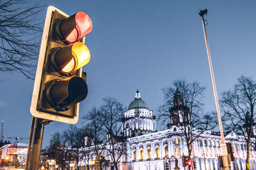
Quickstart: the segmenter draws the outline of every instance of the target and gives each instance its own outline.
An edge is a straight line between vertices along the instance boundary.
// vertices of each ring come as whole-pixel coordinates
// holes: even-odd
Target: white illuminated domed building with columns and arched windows
[[[148,110],[147,103],[141,99],[140,92],[136,92],[134,101],[129,104],[124,113],[122,133],[127,138],[127,150],[121,157],[119,169],[174,169],[175,159],[180,169],[182,167],[182,155],[188,155],[185,139],[180,136],[179,123],[186,120],[188,107],[182,103],[179,90],[173,99],[173,107],[170,108],[169,128],[164,131],[156,131],[156,117],[153,111]],[[228,149],[232,150],[230,169],[246,169],[246,143],[243,138],[234,132],[225,136]],[[220,169],[218,155],[220,155],[221,136],[218,132],[205,131],[193,142],[191,159],[196,162],[197,170]],[[106,160],[111,160],[106,154]],[[111,169],[109,166],[102,169]],[[256,169],[256,152],[250,150],[250,167]],[[113,169],[113,167],[112,167]]]

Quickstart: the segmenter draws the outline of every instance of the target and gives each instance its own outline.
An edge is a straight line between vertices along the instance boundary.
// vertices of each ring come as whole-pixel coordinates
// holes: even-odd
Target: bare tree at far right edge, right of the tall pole
[[[246,76],[237,78],[234,89],[221,94],[221,106],[221,110],[225,113],[225,129],[236,132],[246,140],[246,163],[249,163],[253,126],[255,125],[253,120],[256,118],[254,111],[256,106],[255,81]]]

